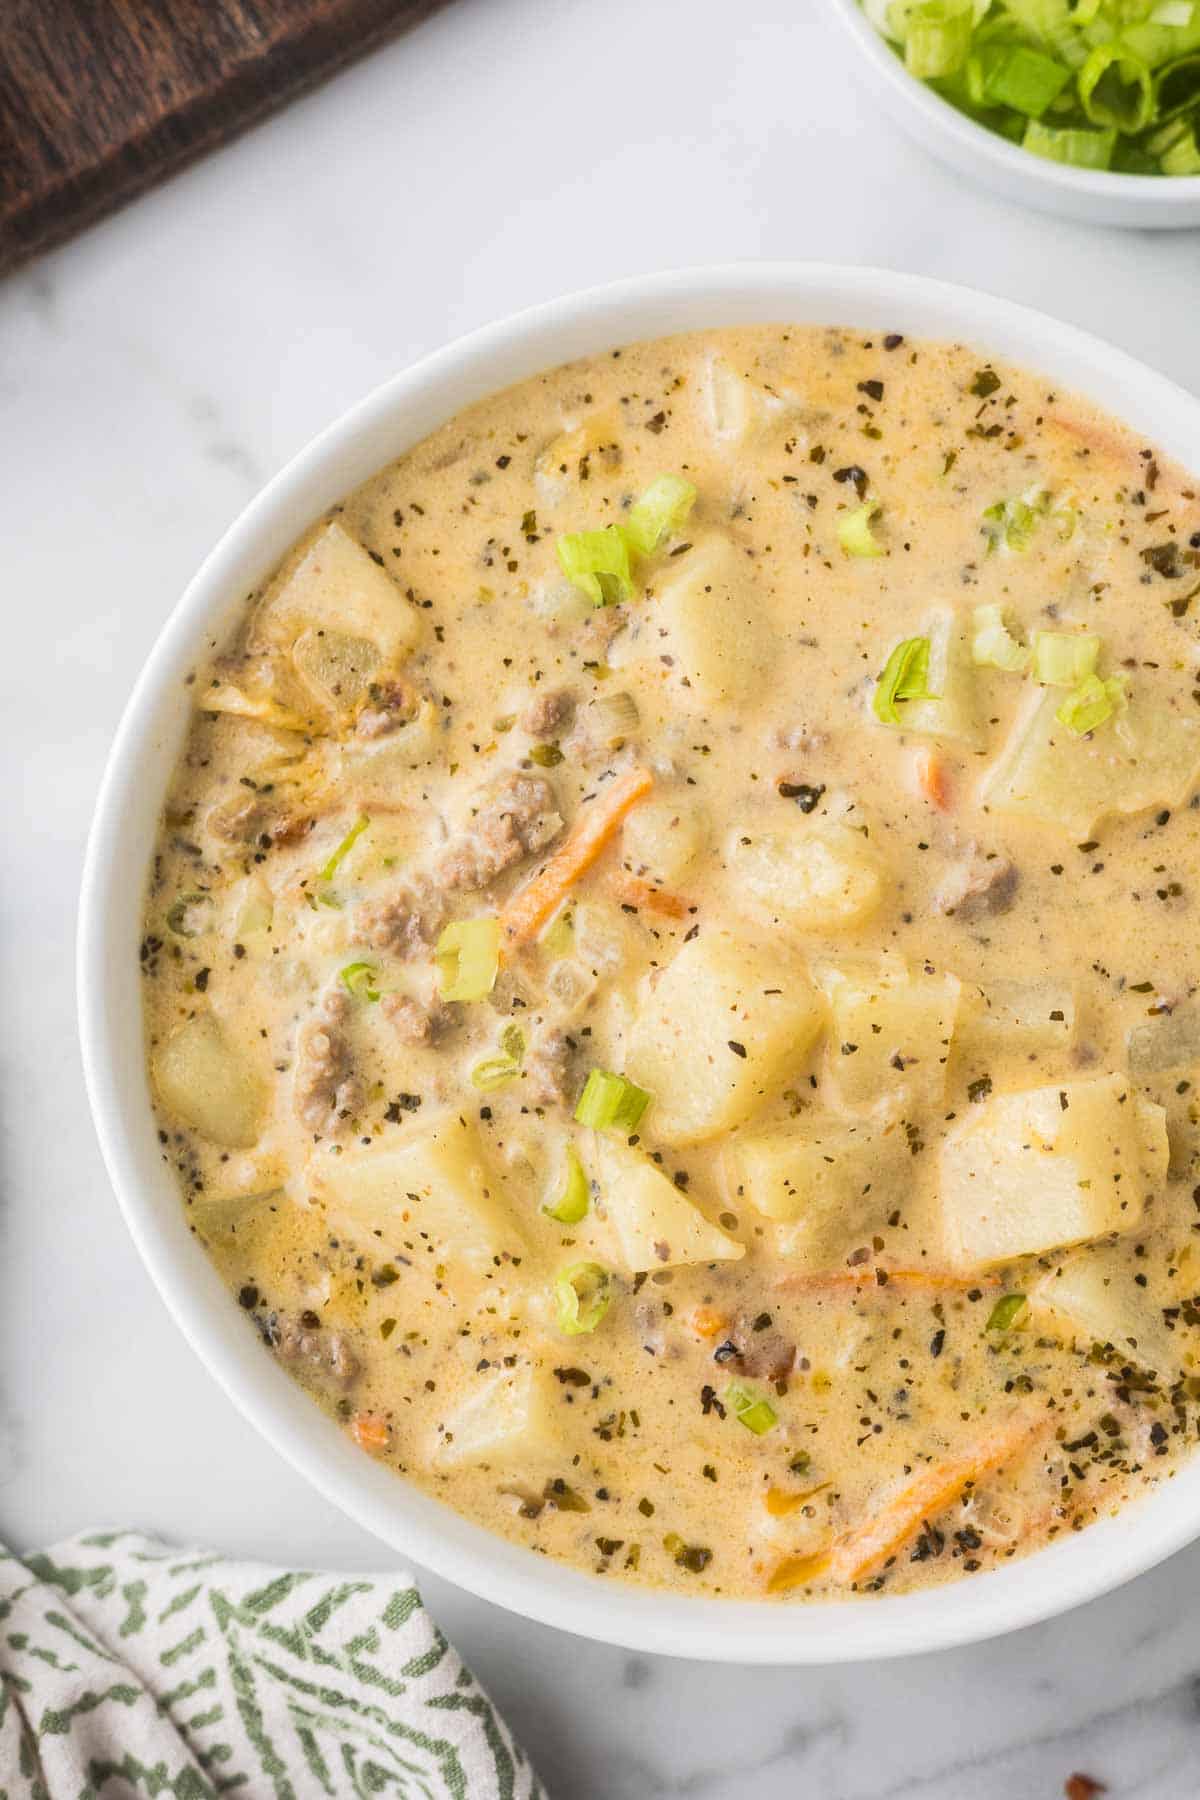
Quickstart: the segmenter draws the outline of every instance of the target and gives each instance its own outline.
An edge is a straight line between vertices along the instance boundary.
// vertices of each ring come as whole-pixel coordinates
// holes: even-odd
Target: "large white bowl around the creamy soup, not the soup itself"
[[[846,324],[975,344],[1078,389],[1200,468],[1200,403],[1097,338],[964,288],[869,268],[781,263],[649,275],[552,301],[441,349],[331,425],[254,500],[167,619],[101,785],[79,916],[79,1024],[95,1125],[126,1222],[200,1357],[259,1431],[362,1526],[473,1593],[639,1651],[745,1663],[900,1656],[1076,1606],[1200,1532],[1200,1458],[1115,1521],[928,1593],[766,1606],[628,1588],[493,1537],[371,1462],[297,1388],[184,1219],[142,1062],[142,880],[191,707],[184,677],[293,538],[381,464],[482,396],[554,364],[705,326]],[[236,1480],[236,1472],[230,1476]]]

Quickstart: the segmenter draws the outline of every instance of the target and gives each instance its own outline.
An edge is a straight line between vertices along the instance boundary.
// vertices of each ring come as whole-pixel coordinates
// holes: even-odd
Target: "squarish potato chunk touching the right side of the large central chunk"
[[[937,1105],[959,1015],[955,976],[910,974],[896,958],[876,970],[826,968],[829,1073],[849,1107],[903,1093]]]

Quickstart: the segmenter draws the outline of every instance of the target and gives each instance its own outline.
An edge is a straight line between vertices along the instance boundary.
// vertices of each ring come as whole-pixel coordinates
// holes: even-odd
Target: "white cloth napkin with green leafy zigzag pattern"
[[[407,1573],[0,1546],[0,1800],[545,1800]]]

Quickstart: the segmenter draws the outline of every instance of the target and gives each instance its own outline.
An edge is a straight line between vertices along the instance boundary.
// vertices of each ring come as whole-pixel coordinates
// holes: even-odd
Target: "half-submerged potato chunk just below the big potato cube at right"
[[[1133,1280],[1137,1269],[1121,1244],[1076,1251],[1031,1289],[1034,1327],[1083,1352],[1112,1345],[1119,1357],[1171,1382],[1182,1372],[1187,1339],[1168,1330],[1162,1309]]]

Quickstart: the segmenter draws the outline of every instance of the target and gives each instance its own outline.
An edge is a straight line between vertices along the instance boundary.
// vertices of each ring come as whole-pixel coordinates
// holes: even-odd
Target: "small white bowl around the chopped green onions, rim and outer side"
[[[856,49],[864,83],[896,124],[959,175],[972,175],[1006,200],[1085,225],[1180,230],[1200,225],[1200,175],[1112,175],[1070,169],[975,124],[905,68],[860,0],[829,0]]]

